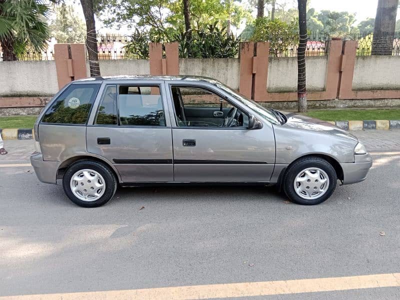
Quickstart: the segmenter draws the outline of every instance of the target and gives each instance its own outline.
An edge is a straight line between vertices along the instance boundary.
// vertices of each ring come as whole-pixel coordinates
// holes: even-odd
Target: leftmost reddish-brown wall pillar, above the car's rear
[[[84,44],[55,44],[54,60],[59,88],[87,76]]]

